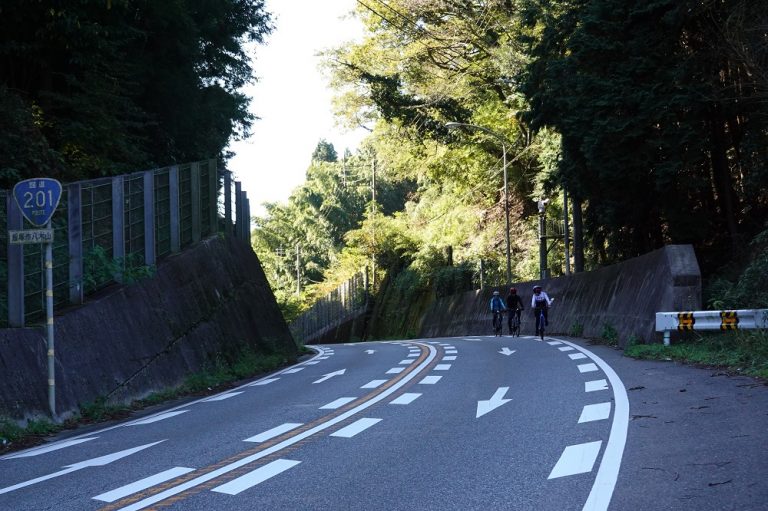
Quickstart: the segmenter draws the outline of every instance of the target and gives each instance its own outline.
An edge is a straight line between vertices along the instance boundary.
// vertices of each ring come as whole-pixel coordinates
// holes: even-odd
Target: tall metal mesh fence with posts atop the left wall
[[[238,200],[232,193],[225,197],[225,183],[234,190],[231,174],[219,173],[215,160],[205,160],[64,184],[51,220],[54,309],[82,303],[84,295],[120,281],[129,270],[153,266],[223,230],[225,205]],[[229,202],[226,209],[234,225],[236,203]],[[8,230],[30,224],[22,220],[7,190],[0,190],[0,225],[7,227],[0,229],[0,327],[41,324],[45,248],[8,244]]]

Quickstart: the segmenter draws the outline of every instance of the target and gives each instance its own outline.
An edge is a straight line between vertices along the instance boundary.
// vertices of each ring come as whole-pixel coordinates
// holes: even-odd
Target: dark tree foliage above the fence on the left
[[[0,188],[226,158],[263,0],[3,1]]]

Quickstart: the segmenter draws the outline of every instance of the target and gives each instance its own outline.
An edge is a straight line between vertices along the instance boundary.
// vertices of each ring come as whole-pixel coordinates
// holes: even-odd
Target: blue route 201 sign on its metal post
[[[48,338],[48,407],[51,417],[56,418],[56,358],[54,356],[53,331],[53,229],[51,217],[61,199],[61,183],[55,179],[35,178],[16,183],[13,196],[21,213],[35,227],[45,229],[11,231],[13,244],[45,243],[45,306]]]

